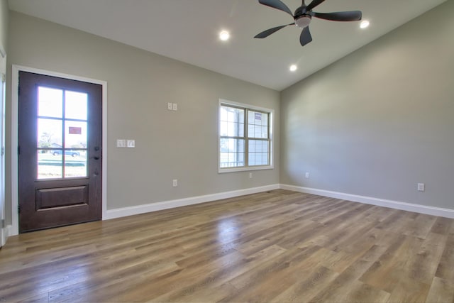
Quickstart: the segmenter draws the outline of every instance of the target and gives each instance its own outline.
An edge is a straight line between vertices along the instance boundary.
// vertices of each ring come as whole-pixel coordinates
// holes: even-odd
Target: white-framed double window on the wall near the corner
[[[219,102],[219,172],[272,168],[272,110]]]

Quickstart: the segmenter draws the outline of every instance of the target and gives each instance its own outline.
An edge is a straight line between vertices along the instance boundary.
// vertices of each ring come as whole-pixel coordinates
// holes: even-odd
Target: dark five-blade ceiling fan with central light
[[[306,5],[304,4],[304,0],[302,0],[301,6],[299,6],[293,14],[289,7],[280,0],[259,0],[260,4],[288,13],[294,18],[294,23],[267,29],[258,35],[255,35],[254,38],[267,38],[267,36],[286,26],[298,26],[303,29],[301,35],[299,36],[299,43],[301,43],[301,46],[304,46],[312,41],[311,32],[309,31],[309,23],[311,23],[312,17],[331,21],[360,21],[362,18],[362,13],[360,11],[338,11],[335,13],[316,13],[315,11],[312,11],[312,9],[321,4],[323,1],[325,0],[313,0],[309,5]]]

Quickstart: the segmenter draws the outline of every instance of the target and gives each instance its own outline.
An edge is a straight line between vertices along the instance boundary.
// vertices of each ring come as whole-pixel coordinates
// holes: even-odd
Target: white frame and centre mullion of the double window
[[[226,105],[226,106],[233,106],[233,107],[238,107],[241,109],[249,109],[252,111],[262,111],[265,112],[266,114],[269,115],[269,153],[270,153],[270,164],[269,165],[254,165],[254,166],[242,166],[242,167],[222,167],[221,168],[221,106]],[[218,172],[223,173],[223,172],[243,172],[243,171],[250,171],[250,170],[271,170],[275,168],[274,166],[274,153],[273,153],[273,145],[274,145],[274,138],[273,138],[273,130],[275,128],[274,126],[274,114],[275,111],[273,109],[267,109],[265,107],[260,107],[260,106],[254,106],[251,104],[243,104],[243,103],[238,103],[234,101],[228,101],[225,99],[219,99],[219,104],[218,104]],[[247,128],[247,118],[245,117],[245,128]],[[248,145],[248,134],[245,133],[245,146]],[[245,161],[248,159],[248,154],[247,154],[247,149],[245,150]],[[248,163],[247,163],[248,164]]]

